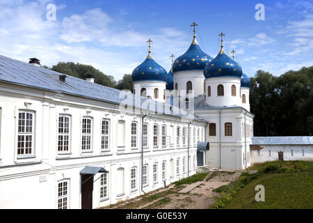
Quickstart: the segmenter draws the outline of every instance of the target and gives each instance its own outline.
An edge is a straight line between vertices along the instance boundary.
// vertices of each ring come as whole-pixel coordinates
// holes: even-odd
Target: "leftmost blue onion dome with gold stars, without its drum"
[[[150,54],[147,59],[141,63],[135,70],[131,73],[131,78],[133,82],[142,81],[161,81],[166,82],[168,73],[164,68],[159,66],[159,64],[152,59]]]

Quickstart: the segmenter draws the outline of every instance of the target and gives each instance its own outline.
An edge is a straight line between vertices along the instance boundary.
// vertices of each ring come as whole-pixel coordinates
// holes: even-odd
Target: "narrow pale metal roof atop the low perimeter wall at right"
[[[313,137],[252,137],[253,145],[312,145]]]

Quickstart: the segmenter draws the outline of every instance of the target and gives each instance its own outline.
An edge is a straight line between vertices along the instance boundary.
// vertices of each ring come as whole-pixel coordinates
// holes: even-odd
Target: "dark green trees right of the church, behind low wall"
[[[255,136],[313,134],[313,66],[280,77],[258,70],[250,80]]]

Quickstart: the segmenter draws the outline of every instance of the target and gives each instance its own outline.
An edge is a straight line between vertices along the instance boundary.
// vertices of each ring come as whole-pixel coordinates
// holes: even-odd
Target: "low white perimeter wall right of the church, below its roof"
[[[312,145],[251,145],[251,163],[278,160],[280,151],[284,152],[284,160],[313,160]]]

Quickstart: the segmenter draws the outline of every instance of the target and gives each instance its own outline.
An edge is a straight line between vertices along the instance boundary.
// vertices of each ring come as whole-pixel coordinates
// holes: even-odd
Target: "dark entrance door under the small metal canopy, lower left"
[[[81,175],[81,208],[93,209],[93,174]]]

